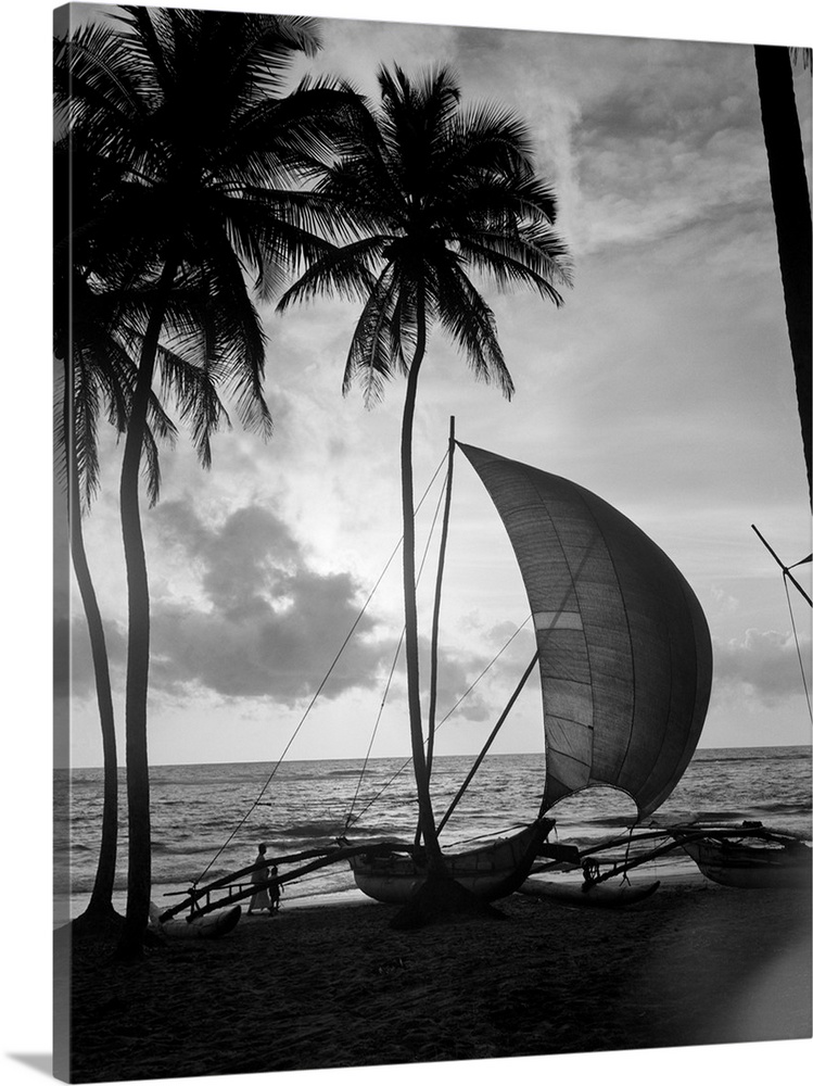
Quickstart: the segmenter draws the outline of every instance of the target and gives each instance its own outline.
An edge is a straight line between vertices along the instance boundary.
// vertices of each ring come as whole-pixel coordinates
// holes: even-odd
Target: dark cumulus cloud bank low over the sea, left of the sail
[[[348,632],[354,635],[333,667],[322,696],[351,689],[381,689],[401,631],[371,610],[359,618],[366,591],[347,572],[316,568],[305,547],[272,509],[243,506],[207,521],[190,502],[167,502],[153,514],[162,576],[152,598],[151,691],[169,697],[213,693],[224,698],[271,698],[292,706],[312,697]],[[114,685],[124,682],[126,630],[107,623]],[[429,654],[421,645],[422,673]],[[467,691],[486,660],[474,653],[441,653],[439,711]],[[403,651],[392,696],[403,696]],[[60,686],[67,674],[60,674]],[[81,615],[75,615],[72,689],[92,695],[92,670]],[[488,716],[482,696],[459,710],[468,720]]]

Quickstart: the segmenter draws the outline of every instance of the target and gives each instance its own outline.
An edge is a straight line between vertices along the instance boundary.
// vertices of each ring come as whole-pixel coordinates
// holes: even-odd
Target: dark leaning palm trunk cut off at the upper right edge
[[[811,482],[811,214],[790,53],[784,46],[755,46],[762,129],[776,222],[790,353],[796,375],[808,491]]]

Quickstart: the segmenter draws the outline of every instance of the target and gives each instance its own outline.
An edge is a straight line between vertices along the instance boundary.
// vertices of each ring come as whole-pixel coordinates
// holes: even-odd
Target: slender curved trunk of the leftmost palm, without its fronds
[[[118,758],[104,626],[102,623],[101,611],[99,610],[93,581],[90,577],[90,568],[85,552],[85,539],[81,530],[79,467],[76,460],[73,405],[73,372],[71,363],[66,358],[63,427],[65,457],[67,462],[67,518],[71,558],[90,636],[90,652],[93,660],[93,677],[96,680],[97,704],[99,706],[99,722],[102,730],[104,765],[102,839],[99,847],[99,862],[93,881],[93,891],[84,913],[89,921],[97,921],[104,920],[115,912],[113,909],[113,885],[116,876],[116,853],[118,848]]]

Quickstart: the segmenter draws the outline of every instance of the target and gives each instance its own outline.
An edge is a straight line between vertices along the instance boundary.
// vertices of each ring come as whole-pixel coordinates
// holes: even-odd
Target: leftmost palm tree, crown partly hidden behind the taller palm
[[[100,243],[94,237],[93,217],[101,175],[103,172],[88,168],[87,160],[76,147],[68,148],[65,141],[58,143],[53,310],[54,354],[63,363],[63,379],[58,390],[61,395],[56,397],[56,479],[62,481],[67,496],[69,551],[90,639],[104,767],[97,873],[88,907],[75,922],[93,930],[107,927],[120,919],[112,901],[118,844],[118,756],[104,624],[85,548],[82,517],[90,512],[100,487],[100,413],[104,412],[119,434],[126,432],[137,376],[128,350],[137,339],[139,308],[148,304],[138,291],[123,294],[111,285],[106,290],[93,290],[84,277],[90,262],[89,247],[98,248]],[[74,193],[72,200],[69,192]],[[174,392],[182,414],[194,411],[199,416],[192,429],[199,456],[206,463],[208,433],[223,420],[228,421],[228,417],[204,370],[165,346],[161,349],[161,357],[165,393]],[[161,485],[155,434],[173,442],[175,433],[174,424],[153,396],[144,442],[151,504],[157,501]]]

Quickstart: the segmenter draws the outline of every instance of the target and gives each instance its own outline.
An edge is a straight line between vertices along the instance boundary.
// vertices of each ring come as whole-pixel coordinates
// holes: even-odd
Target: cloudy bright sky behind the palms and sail
[[[513,377],[510,403],[474,381],[442,331],[432,334],[415,425],[417,493],[445,453],[452,415],[459,440],[593,490],[666,551],[707,615],[714,684],[700,745],[809,743],[782,576],[751,530],[755,523],[787,563],[810,553],[752,49],[343,18],[326,18],[321,33],[322,50],[297,74],[346,77],[374,96],[382,63],[409,73],[443,64],[463,104],[488,100],[517,112],[557,193],[557,229],[572,255],[574,282],[560,310],[480,282]],[[806,136],[811,80],[801,65],[796,81]],[[810,162],[809,138],[806,151]],[[284,316],[264,306],[261,315],[272,439],[264,444],[236,419],[204,472],[181,433],[162,454],[161,502],[144,513],[151,759],[361,757],[377,720],[373,756],[407,754],[401,665],[379,720],[403,624],[398,560],[308,711],[401,534],[404,382],[393,380],[372,409],[358,390],[342,396],[357,304],[319,301]],[[119,454],[104,433],[102,491],[86,540],[120,727]],[[419,534],[436,497],[434,490]],[[433,556],[421,583],[424,641]],[[447,570],[441,716],[528,615],[504,529],[462,458]],[[801,597],[793,605],[806,665],[810,608]],[[71,757],[99,765],[76,592],[56,608],[72,616]],[[445,721],[440,753],[480,748],[532,652],[525,630]],[[543,742],[531,683],[494,749],[532,752]]]

